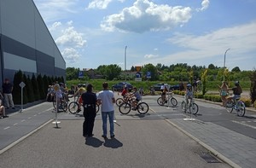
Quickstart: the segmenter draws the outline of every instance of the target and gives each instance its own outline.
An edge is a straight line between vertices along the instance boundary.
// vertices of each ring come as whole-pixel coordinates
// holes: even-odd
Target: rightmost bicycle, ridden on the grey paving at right
[[[243,101],[240,100],[240,98],[236,99],[236,101],[234,101],[233,99],[228,99],[226,101],[227,112],[232,113],[233,109],[236,110],[237,115],[240,117],[243,117],[246,113],[245,104]]]

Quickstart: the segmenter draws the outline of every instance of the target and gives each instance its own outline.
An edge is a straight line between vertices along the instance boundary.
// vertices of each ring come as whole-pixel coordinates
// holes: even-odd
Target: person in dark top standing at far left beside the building
[[[4,83],[3,83],[3,97],[4,97],[4,102],[6,104],[6,108],[8,109],[9,106],[11,106],[13,109],[15,109],[15,104],[13,101],[13,84],[10,84],[9,79],[5,78]]]

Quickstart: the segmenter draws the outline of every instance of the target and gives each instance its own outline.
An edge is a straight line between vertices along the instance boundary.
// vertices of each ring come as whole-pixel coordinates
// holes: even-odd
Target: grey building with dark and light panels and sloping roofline
[[[32,0],[0,0],[0,84],[15,72],[66,78],[66,62]]]

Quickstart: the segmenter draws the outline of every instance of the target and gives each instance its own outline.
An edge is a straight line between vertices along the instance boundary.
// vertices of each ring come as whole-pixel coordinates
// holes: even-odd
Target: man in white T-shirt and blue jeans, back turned
[[[115,98],[113,96],[113,91],[108,90],[108,83],[104,82],[102,84],[103,90],[99,92],[98,103],[102,104],[102,130],[103,138],[107,138],[107,119],[109,119],[110,125],[110,137],[114,137],[113,133],[113,103],[115,103]]]

